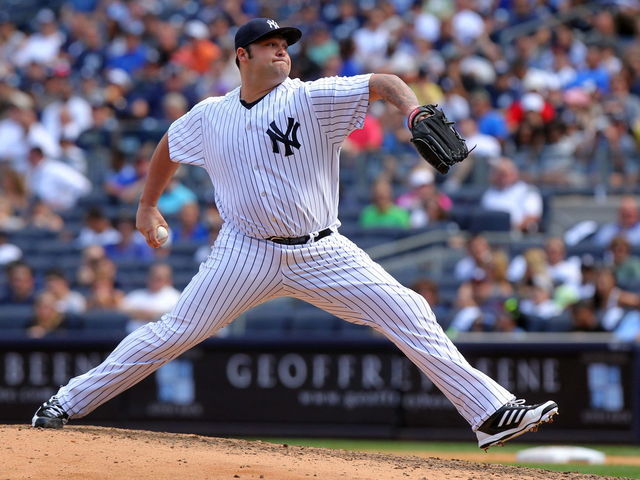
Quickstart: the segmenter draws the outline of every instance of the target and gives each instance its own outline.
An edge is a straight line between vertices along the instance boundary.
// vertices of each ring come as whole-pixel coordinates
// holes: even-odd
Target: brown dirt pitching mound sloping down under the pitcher
[[[0,426],[0,480],[602,480],[501,465],[100,427]]]

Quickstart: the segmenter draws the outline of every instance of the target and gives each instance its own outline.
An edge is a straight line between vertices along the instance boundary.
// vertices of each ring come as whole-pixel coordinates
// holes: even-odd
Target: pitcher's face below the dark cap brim
[[[249,71],[262,78],[278,78],[281,81],[291,72],[291,57],[287,48],[289,44],[281,36],[268,37],[251,44],[246,52],[246,65]]]

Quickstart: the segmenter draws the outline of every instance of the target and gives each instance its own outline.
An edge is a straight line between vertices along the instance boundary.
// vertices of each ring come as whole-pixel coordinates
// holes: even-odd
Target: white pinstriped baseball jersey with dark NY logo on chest
[[[255,238],[338,227],[340,146],[361,128],[369,77],[286,79],[251,108],[240,87],[169,129],[175,162],[204,167],[222,218]]]

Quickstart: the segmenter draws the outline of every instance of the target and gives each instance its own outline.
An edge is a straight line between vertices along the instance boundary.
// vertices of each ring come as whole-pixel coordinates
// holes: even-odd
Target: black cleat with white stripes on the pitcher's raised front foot
[[[476,430],[478,446],[485,451],[526,432],[535,432],[541,423],[553,422],[558,405],[548,401],[525,405],[524,400],[513,400],[503,405]]]

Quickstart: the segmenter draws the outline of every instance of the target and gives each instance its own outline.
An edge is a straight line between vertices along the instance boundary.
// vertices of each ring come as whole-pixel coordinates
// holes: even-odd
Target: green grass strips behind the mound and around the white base
[[[351,440],[351,439],[322,439],[322,438],[260,438],[265,442],[286,443],[288,445],[300,445],[308,447],[375,451],[375,452],[472,452],[481,453],[478,446],[472,442],[413,442],[404,440]],[[504,447],[494,448],[487,455],[487,461],[492,462],[490,454],[496,453],[516,453],[526,448],[540,446],[540,444],[512,443]],[[603,452],[605,455],[615,455],[621,457],[640,457],[640,446],[630,445],[575,445],[592,448]],[[498,462],[492,462],[498,463]],[[610,477],[638,478],[640,479],[640,466],[634,465],[586,465],[586,464],[531,464],[531,463],[510,463],[530,468],[542,468],[558,472],[578,472],[590,473],[593,475],[604,475]]]

